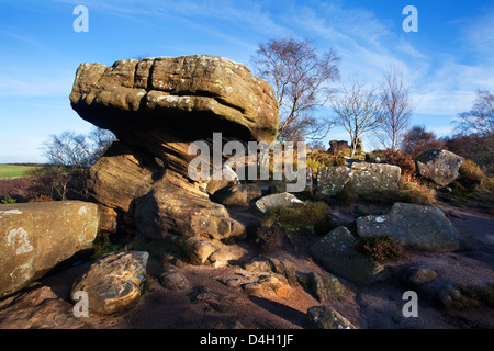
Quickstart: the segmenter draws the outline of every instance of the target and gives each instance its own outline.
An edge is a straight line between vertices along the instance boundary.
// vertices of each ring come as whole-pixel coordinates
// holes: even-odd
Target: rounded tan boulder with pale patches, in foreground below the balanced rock
[[[114,314],[134,307],[146,282],[149,253],[112,252],[99,258],[72,287],[88,294],[88,307],[100,314]]]

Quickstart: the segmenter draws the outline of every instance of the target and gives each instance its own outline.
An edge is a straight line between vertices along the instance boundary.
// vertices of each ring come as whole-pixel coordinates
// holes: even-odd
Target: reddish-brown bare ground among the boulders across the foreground
[[[343,220],[351,219],[357,212],[370,208],[360,206],[338,206],[332,213]],[[366,207],[367,206],[367,207]],[[316,305],[327,305],[336,309],[359,328],[494,328],[492,306],[473,302],[456,307],[445,307],[438,293],[447,285],[485,286],[494,283],[494,218],[474,208],[461,208],[457,205],[440,203],[453,225],[460,230],[468,244],[465,249],[450,253],[423,253],[406,251],[403,260],[392,264],[394,276],[371,286],[359,286],[344,279],[340,282],[348,288],[343,301],[332,298],[319,303],[311,292],[300,284],[289,286],[281,294],[263,292],[248,295],[240,287],[227,286],[222,281],[246,276],[239,268],[242,262],[231,262],[222,268],[176,264],[175,270],[187,279],[187,287],[170,291],[162,287],[157,276],[164,269],[164,262],[153,258],[148,262],[148,283],[139,303],[134,308],[115,315],[103,316],[90,312],[76,322],[71,316],[70,287],[72,282],[88,269],[90,262],[64,267],[53,272],[24,292],[0,301],[0,328],[159,328],[159,329],[199,329],[199,328],[254,328],[291,329],[306,328],[307,309]],[[357,212],[356,212],[357,208]],[[379,211],[371,206],[371,211]],[[246,213],[237,217],[252,219]],[[317,240],[311,237],[297,245],[277,252],[260,252],[255,246],[245,242],[249,254],[247,261],[259,253],[272,258],[285,259],[296,265],[297,272],[319,272],[323,269],[307,254],[307,247]],[[437,278],[422,286],[411,287],[402,283],[404,268],[415,265],[433,269]],[[44,288],[47,286],[53,292]],[[406,318],[402,308],[403,293],[414,290],[418,296],[418,317]],[[48,293],[47,293],[48,292]],[[197,296],[201,293],[201,298]],[[40,295],[47,294],[42,298]],[[37,297],[36,297],[37,295]],[[205,296],[205,297],[204,297]],[[47,302],[53,302],[48,304]],[[56,304],[54,302],[57,302]],[[66,318],[57,317],[65,315]],[[46,317],[44,317],[46,316]]]

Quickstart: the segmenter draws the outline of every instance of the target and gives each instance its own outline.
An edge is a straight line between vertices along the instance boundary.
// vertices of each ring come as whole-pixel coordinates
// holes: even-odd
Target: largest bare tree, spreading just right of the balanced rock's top
[[[332,124],[314,117],[335,92],[328,84],[339,79],[339,57],[319,55],[308,39],[271,39],[260,44],[252,61],[256,73],[274,90],[280,105],[278,139],[321,139]]]

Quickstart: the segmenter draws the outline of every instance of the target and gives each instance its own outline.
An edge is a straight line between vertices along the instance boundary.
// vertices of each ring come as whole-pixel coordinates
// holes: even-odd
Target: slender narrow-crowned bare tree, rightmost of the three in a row
[[[385,148],[394,152],[408,129],[415,104],[396,68],[392,67],[384,73],[381,89],[384,118],[375,135]]]

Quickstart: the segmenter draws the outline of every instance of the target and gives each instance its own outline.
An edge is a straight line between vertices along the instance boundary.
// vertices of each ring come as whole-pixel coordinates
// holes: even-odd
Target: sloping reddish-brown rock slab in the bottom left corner
[[[81,319],[82,318],[82,319]],[[74,306],[48,286],[37,286],[0,301],[0,329],[79,329]]]

